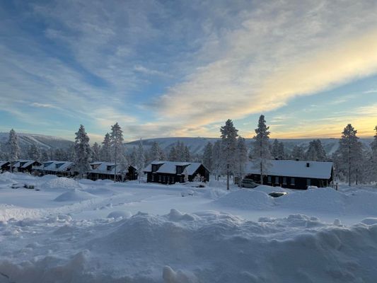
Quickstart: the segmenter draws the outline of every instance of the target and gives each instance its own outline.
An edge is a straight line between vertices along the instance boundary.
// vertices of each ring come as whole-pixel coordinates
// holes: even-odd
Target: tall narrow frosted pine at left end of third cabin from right
[[[91,170],[91,146],[89,145],[89,137],[83,125],[80,125],[79,131],[75,134],[74,149],[76,158],[73,170],[79,173],[79,177],[83,178]]]

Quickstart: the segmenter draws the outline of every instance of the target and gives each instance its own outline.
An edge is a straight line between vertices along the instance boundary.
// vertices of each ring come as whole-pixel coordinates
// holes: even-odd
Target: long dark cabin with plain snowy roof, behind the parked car
[[[332,162],[272,160],[263,184],[305,190],[308,186],[327,187],[332,183]],[[260,183],[259,163],[249,162],[245,178]]]

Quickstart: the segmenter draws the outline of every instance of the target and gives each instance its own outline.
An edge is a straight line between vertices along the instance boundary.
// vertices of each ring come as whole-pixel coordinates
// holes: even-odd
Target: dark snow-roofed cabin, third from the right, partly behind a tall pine
[[[122,172],[120,169],[120,164],[115,166],[115,163],[112,162],[93,162],[91,163],[92,170],[88,172],[86,178],[91,180],[114,180],[115,168],[117,168],[117,180],[137,180],[137,169],[134,166],[129,166],[128,171]]]

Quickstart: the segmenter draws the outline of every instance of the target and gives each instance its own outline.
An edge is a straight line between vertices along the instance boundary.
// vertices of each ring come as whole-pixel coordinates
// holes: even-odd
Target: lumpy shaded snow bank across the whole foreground
[[[225,213],[173,209],[163,216],[139,213],[115,222],[45,226],[14,245],[16,237],[28,233],[17,229],[17,235],[3,240],[0,271],[8,278],[0,282],[330,283],[377,278],[377,225],[333,226],[299,214],[245,221]],[[67,236],[74,238],[66,241]],[[35,246],[38,237],[45,238]]]

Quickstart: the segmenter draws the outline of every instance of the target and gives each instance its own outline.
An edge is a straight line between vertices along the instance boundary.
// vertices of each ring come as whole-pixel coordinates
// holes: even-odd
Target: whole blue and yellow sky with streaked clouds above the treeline
[[[102,141],[359,137],[377,125],[377,1],[0,1],[0,131]]]

